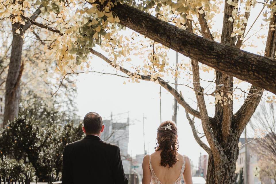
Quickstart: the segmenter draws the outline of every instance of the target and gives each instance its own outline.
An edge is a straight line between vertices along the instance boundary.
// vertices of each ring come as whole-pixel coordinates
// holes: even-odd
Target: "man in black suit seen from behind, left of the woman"
[[[83,119],[85,138],[65,146],[62,184],[127,184],[116,145],[101,140],[103,120],[95,112]]]

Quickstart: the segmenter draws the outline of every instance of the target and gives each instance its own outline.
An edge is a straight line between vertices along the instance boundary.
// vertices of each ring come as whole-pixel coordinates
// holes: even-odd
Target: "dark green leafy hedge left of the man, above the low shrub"
[[[0,131],[0,158],[9,157],[18,164],[30,163],[39,181],[47,181],[51,173],[61,175],[63,149],[84,137],[81,126],[72,122],[41,123],[29,114],[22,114]],[[0,168],[2,164],[5,163]]]

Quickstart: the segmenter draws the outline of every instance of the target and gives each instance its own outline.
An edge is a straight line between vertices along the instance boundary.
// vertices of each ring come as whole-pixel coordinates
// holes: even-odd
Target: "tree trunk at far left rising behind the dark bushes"
[[[18,116],[19,100],[20,100],[20,78],[22,75],[23,65],[21,65],[21,53],[23,46],[22,29],[20,34],[15,31],[19,28],[19,24],[12,24],[13,39],[11,43],[11,57],[9,62],[9,71],[6,80],[5,93],[5,111],[4,123],[13,120]]]

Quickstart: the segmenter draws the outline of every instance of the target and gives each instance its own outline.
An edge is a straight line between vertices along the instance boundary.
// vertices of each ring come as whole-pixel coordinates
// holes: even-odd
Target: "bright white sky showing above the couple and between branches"
[[[248,21],[248,25],[252,25],[252,22],[258,16],[262,5],[258,4],[256,8],[251,11],[251,17]],[[222,7],[223,8],[223,7]],[[221,30],[223,15],[216,16],[216,22],[218,27],[213,27],[213,31]],[[262,23],[262,15],[258,18],[257,22],[253,26],[252,30],[248,34],[248,37],[255,31],[260,29]],[[263,22],[263,24],[265,24]],[[264,29],[264,33],[267,29]],[[254,40],[255,39],[255,40]],[[266,39],[264,39],[266,40]],[[250,41],[250,40],[248,40]],[[256,37],[252,37],[256,48],[247,47],[246,50],[257,53],[264,50],[263,40],[256,40]],[[106,55],[107,56],[107,55]],[[175,51],[170,51],[170,62],[175,63]],[[179,54],[179,61],[185,59],[185,57]],[[187,58],[186,58],[187,59]],[[93,70],[104,72],[113,72],[114,69],[99,59],[94,57],[92,60]],[[205,75],[207,75],[205,73]],[[201,75],[201,77],[203,74]],[[204,77],[202,77],[204,78]],[[150,81],[141,81],[141,83],[128,83],[124,85],[126,78],[122,78],[114,75],[102,75],[96,73],[81,74],[78,76],[77,92],[78,97],[76,99],[78,107],[78,115],[83,118],[87,112],[98,112],[104,119],[110,119],[110,114],[113,112],[113,119],[118,122],[126,122],[127,113],[129,112],[130,123],[129,127],[129,154],[135,156],[136,154],[143,154],[143,113],[145,119],[145,145],[146,150],[150,153],[154,152],[156,130],[160,123],[160,86]],[[242,88],[247,88],[248,83],[244,83]],[[179,90],[185,100],[196,108],[196,98],[187,87],[179,86]],[[165,89],[161,88],[162,94],[162,121],[171,120],[173,114],[173,96],[169,94]],[[191,99],[189,99],[191,98]],[[212,101],[212,99],[211,99]],[[208,105],[209,101],[206,102]],[[234,112],[237,111],[241,102],[234,101]],[[213,116],[213,107],[208,108],[209,116]],[[124,114],[121,114],[124,113]],[[198,163],[198,157],[200,152],[206,154],[203,149],[196,143],[191,127],[186,119],[185,110],[182,106],[179,106],[177,111],[177,127],[179,130],[179,152],[187,155],[193,164],[196,166]],[[116,115],[121,114],[121,115]],[[200,121],[196,121],[196,127],[200,125]],[[200,132],[201,126],[198,127]],[[204,139],[203,139],[204,140]],[[204,140],[206,142],[206,140]]]

